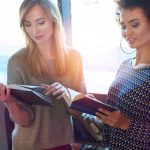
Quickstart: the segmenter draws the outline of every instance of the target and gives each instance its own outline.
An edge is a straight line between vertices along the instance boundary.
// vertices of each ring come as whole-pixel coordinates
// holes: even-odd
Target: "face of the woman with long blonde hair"
[[[37,44],[46,44],[53,39],[53,21],[39,5],[33,6],[25,16],[24,27],[30,38]]]

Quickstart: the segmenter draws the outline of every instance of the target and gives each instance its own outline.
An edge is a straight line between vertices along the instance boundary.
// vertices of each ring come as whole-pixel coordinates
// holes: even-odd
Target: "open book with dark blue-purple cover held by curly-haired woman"
[[[108,111],[117,110],[116,107],[105,103],[104,99],[98,100],[95,97],[90,97],[87,94],[79,93],[72,89],[67,89],[63,98],[65,99],[69,108],[91,115],[95,115],[95,112],[98,111],[99,108],[103,108]]]

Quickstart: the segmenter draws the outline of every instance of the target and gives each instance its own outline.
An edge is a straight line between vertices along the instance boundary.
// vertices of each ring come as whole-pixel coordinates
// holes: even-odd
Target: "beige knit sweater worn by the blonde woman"
[[[71,59],[78,72],[76,87],[72,86],[71,74],[61,78],[54,76],[55,67],[53,62],[49,62],[51,69],[48,77],[37,79],[27,74],[27,68],[23,65],[26,61],[24,58],[25,53],[26,49],[21,49],[9,59],[8,84],[40,85],[43,83],[52,84],[57,81],[66,87],[85,92],[82,64],[79,61],[81,57],[77,51],[70,50]],[[28,106],[25,107],[31,109]],[[55,100],[55,108],[33,105],[32,109],[35,112],[35,119],[30,126],[22,127],[15,123],[15,129],[12,133],[14,150],[41,150],[74,142],[71,116],[66,109],[63,99]]]

